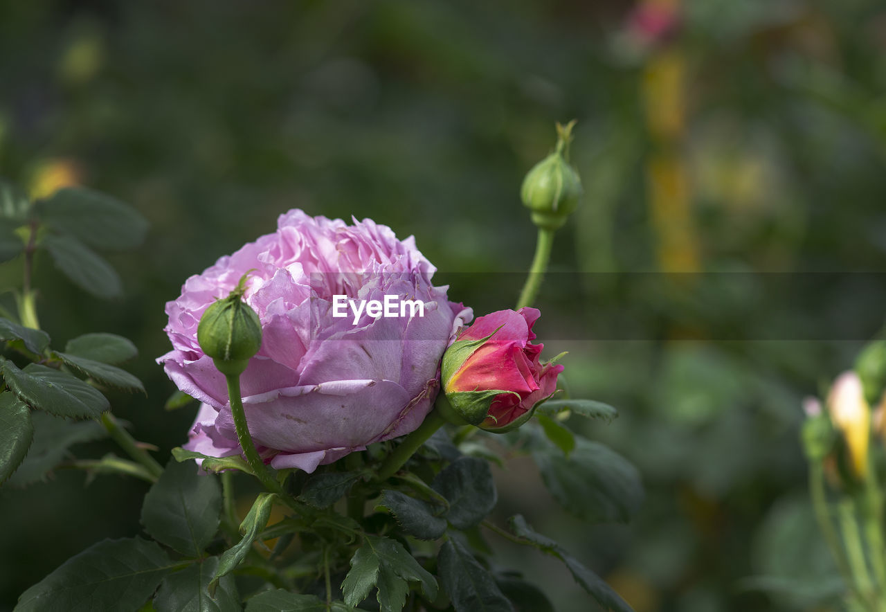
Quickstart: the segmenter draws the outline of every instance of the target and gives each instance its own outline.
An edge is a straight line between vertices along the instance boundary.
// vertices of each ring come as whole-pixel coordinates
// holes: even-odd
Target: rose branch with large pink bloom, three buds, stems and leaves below
[[[525,201],[542,236],[527,303],[539,291],[554,231],[580,190],[577,175],[563,166],[570,129],[559,128],[553,157],[527,182]],[[399,240],[368,219],[349,225],[292,210],[280,216],[276,233],[191,276],[181,297],[167,303],[173,350],[159,362],[202,406],[189,441],[173,451],[175,461],[151,476],[142,524],[152,541],[124,538],[89,548],[24,593],[23,609],[95,608],[97,600],[131,609],[150,600],[158,610],[180,609],[176,601],[219,609],[242,609],[244,601],[247,609],[354,609],[373,596],[379,609],[392,612],[473,612],[478,601],[520,608],[524,602],[509,588],[536,593],[538,609],[550,609],[531,583],[510,574],[502,582],[478,543],[478,528],[492,524],[487,519],[498,500],[490,462],[501,465],[516,449],[532,454],[556,501],[590,522],[628,520],[642,498],[639,474],[563,425],[568,414],[610,418],[614,409],[588,400],[544,405],[563,366],[557,358],[541,360],[543,346],[532,342],[538,310],[501,310],[469,326],[470,307],[431,283],[434,270],[412,237]],[[336,305],[358,298],[385,305],[399,298],[400,317],[386,306],[380,314],[354,304],[354,317],[336,314]],[[404,316],[403,300],[430,307]],[[28,334],[15,333],[15,342]],[[42,341],[30,339],[31,352],[42,353]],[[18,380],[14,364],[8,370]],[[0,410],[19,414],[18,399],[10,399],[0,393]],[[539,409],[545,416],[532,422]],[[455,438],[441,430],[446,422],[460,427]],[[523,425],[500,444],[484,433]],[[111,431],[131,456],[144,453],[121,428]],[[148,476],[142,462],[112,459]],[[234,507],[237,471],[266,489],[242,521]],[[295,512],[272,515],[281,506]],[[499,532],[561,559],[603,608],[630,611],[602,578],[522,517],[511,520],[511,531]],[[270,555],[261,554],[273,538]],[[84,571],[106,575],[69,588]],[[43,608],[28,608],[37,600]]]

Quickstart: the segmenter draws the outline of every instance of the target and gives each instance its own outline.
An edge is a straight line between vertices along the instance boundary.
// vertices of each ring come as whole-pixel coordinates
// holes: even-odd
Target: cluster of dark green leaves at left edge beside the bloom
[[[0,484],[31,484],[62,465],[156,478],[113,455],[66,461],[71,445],[107,433],[97,422],[113,418],[107,414],[107,390],[144,393],[141,381],[120,368],[137,350],[128,339],[107,333],[75,337],[64,350],[52,347],[50,335],[38,329],[30,286],[35,258],[49,252],[82,289],[115,297],[120,277],[91,249],[132,248],[146,229],[141,215],[96,191],[66,188],[32,201],[0,180],[0,262],[24,260],[24,287],[13,291],[18,314],[0,307]]]

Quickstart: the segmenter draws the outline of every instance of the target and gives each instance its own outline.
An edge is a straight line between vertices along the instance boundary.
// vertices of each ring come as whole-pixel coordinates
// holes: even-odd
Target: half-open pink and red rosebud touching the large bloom
[[[544,345],[530,342],[539,316],[535,308],[500,310],[462,331],[443,355],[443,391],[455,413],[444,416],[504,433],[556,392],[563,366],[540,361]]]

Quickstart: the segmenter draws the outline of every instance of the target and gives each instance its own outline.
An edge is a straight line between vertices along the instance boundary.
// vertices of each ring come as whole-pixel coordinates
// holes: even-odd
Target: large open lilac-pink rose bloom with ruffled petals
[[[354,225],[300,210],[274,234],[222,257],[167,304],[173,350],[159,358],[179,389],[203,402],[185,448],[241,453],[224,376],[200,350],[200,316],[250,272],[245,301],[259,314],[261,348],[240,377],[246,420],[276,469],[312,472],[373,442],[415,430],[439,388],[439,362],[470,308],[434,287],[414,239],[373,221]],[[424,315],[333,316],[333,299],[422,300]],[[340,313],[340,310],[339,310]]]

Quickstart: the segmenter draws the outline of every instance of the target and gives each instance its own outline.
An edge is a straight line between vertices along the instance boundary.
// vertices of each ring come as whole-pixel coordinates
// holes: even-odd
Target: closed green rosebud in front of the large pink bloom
[[[248,275],[248,273],[247,273]],[[243,301],[246,276],[227,298],[217,300],[200,317],[197,341],[225,376],[240,376],[261,346],[259,315]]]

